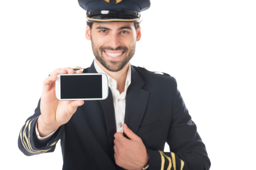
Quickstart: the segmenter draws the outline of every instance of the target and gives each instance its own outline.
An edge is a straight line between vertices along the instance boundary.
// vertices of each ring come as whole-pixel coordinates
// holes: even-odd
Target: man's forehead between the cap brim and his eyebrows
[[[93,23],[92,29],[96,29],[98,27],[105,27],[111,30],[118,30],[120,28],[130,27],[131,29],[135,29],[134,23],[125,23],[125,22],[111,22],[111,23]]]

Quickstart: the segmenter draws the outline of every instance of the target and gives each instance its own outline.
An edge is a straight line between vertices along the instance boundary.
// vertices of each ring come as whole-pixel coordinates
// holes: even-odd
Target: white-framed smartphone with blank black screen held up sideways
[[[58,100],[104,100],[109,95],[108,77],[104,73],[58,74]]]

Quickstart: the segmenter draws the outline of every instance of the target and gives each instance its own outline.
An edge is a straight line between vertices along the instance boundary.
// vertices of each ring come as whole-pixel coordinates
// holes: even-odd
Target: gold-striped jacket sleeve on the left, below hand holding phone
[[[39,141],[36,137],[35,125],[40,114],[41,112],[39,100],[34,115],[26,120],[25,125],[21,128],[19,134],[18,147],[27,156],[39,153],[53,152],[55,150],[56,143],[60,139],[61,133],[63,131],[63,127],[61,126],[48,140],[44,142]]]

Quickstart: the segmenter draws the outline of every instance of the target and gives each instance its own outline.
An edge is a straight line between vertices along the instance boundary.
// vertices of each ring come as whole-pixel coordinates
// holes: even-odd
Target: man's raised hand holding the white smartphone
[[[67,123],[83,101],[59,101],[56,98],[56,79],[58,74],[82,73],[82,70],[74,71],[70,67],[54,70],[43,81],[42,95],[40,99],[41,115],[37,120],[37,128],[41,137],[47,136],[61,125]]]

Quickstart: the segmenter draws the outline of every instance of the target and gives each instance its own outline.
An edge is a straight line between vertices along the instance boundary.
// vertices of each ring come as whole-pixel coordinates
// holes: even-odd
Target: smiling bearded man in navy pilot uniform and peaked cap
[[[149,0],[79,0],[87,11],[86,39],[95,59],[89,68],[56,69],[19,135],[25,155],[53,152],[61,139],[63,169],[209,169],[210,160],[184,105],[176,80],[134,67],[140,12]],[[103,101],[58,101],[63,73],[104,72]],[[165,143],[171,152],[163,152]]]

